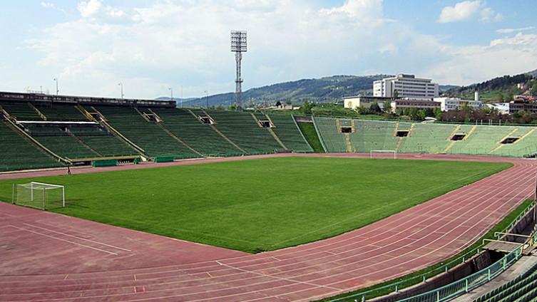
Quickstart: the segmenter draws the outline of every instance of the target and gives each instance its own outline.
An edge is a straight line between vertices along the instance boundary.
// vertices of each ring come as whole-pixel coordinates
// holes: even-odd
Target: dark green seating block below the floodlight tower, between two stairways
[[[250,113],[210,110],[215,127],[248,154],[272,153],[282,150],[267,129],[255,123]]]

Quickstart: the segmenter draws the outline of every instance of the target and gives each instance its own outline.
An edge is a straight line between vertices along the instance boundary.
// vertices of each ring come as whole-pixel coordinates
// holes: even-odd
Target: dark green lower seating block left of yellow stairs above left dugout
[[[76,126],[69,127],[73,135],[82,140],[103,157],[118,157],[125,155],[139,155],[131,146],[120,138],[112,135],[101,127]]]

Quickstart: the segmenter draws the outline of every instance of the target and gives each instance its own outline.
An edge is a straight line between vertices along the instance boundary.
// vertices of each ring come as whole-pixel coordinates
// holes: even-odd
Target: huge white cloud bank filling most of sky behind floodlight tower
[[[469,2],[479,5],[464,18],[479,21],[486,7]],[[322,7],[307,0],[106,3],[81,1],[78,18],[26,41],[39,58],[32,66],[58,75],[63,93],[118,95],[119,81],[133,98],[168,95],[170,86],[174,93],[183,86],[185,97],[233,91],[232,29],[248,31],[245,89],[324,75],[399,71],[467,85],[537,66],[533,35],[506,32],[482,45],[451,46],[417,32],[404,19],[387,19],[381,0]]]

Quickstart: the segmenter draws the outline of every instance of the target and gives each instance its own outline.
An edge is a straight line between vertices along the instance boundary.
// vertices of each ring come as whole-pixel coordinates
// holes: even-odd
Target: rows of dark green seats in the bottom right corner
[[[537,300],[537,264],[513,280],[495,288],[474,302],[507,302]]]

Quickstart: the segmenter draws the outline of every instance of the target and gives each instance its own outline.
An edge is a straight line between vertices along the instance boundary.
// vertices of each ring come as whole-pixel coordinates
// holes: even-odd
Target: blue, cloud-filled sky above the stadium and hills
[[[126,98],[329,75],[413,73],[469,85],[537,68],[535,0],[2,1],[0,90]]]

